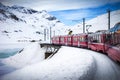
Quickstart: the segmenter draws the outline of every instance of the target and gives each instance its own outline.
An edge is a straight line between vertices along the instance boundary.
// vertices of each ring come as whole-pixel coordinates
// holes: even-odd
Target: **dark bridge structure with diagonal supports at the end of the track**
[[[50,43],[40,43],[41,48],[45,48],[45,59],[51,58],[60,49],[61,45],[50,44]]]

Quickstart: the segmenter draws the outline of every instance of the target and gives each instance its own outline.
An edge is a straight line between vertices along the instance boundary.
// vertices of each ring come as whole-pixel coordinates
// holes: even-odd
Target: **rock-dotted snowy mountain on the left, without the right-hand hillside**
[[[0,3],[1,43],[44,40],[45,33],[49,39],[50,27],[53,31],[54,27],[64,26],[45,10],[36,11],[17,5],[9,7]]]

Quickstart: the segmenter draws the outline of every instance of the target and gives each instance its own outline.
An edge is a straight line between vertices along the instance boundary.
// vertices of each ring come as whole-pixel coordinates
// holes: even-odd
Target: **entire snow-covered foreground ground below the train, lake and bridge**
[[[62,46],[44,60],[44,51],[31,43],[21,53],[0,60],[4,63],[0,80],[120,80],[120,66],[104,54]]]

